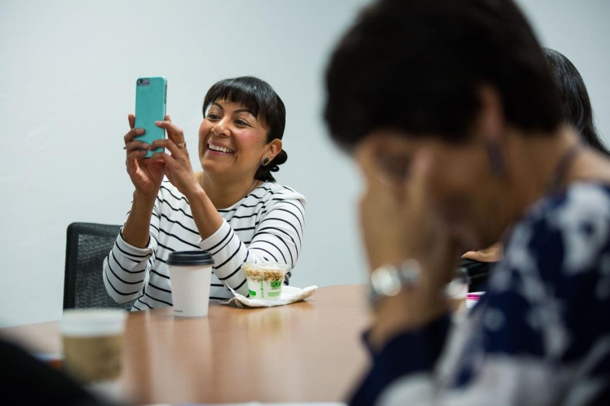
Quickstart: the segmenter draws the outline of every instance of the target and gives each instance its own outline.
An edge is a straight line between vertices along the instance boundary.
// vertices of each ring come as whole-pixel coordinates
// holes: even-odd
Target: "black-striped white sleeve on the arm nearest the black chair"
[[[148,271],[155,260],[159,243],[160,200],[157,197],[152,209],[150,239],[146,248],[130,245],[123,239],[123,229],[112,250],[104,259],[102,277],[106,291],[117,303],[139,298],[148,279]],[[129,215],[129,213],[127,213]]]

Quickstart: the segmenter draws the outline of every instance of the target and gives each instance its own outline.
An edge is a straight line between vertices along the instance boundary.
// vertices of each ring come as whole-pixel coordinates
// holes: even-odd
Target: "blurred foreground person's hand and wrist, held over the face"
[[[405,161],[403,178],[379,164],[381,151],[371,137],[357,147],[354,158],[364,175],[360,201],[362,237],[371,269],[416,259],[422,273],[413,289],[385,298],[371,330],[373,346],[397,332],[421,326],[446,312],[443,289],[453,276],[459,253],[447,227],[433,211],[428,194],[431,155],[416,150]]]

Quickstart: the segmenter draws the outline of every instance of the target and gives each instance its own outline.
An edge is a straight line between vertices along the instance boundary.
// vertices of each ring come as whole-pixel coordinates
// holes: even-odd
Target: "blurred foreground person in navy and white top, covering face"
[[[610,161],[564,124],[514,2],[374,2],[326,92],[365,182],[372,365],[350,404],[610,404]],[[486,295],[452,323],[459,257],[498,241]]]

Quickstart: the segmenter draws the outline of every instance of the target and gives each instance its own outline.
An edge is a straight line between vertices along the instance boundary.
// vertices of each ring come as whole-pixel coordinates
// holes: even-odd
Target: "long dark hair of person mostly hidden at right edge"
[[[545,48],[544,56],[559,89],[565,121],[576,127],[584,142],[599,152],[610,155],[595,130],[589,93],[576,66],[564,54],[554,49]]]

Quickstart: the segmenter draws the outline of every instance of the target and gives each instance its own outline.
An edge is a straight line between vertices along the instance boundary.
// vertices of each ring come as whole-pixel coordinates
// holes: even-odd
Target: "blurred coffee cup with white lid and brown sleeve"
[[[121,373],[123,309],[67,309],[60,320],[63,368],[81,383],[112,381]]]

